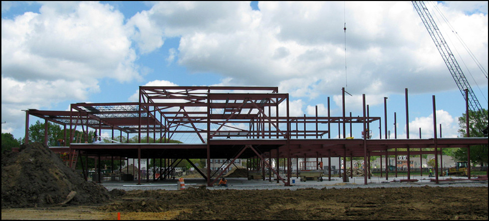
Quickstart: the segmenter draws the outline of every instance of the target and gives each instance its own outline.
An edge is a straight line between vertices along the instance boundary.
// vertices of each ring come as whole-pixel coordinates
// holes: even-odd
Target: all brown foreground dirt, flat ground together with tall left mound
[[[41,144],[1,161],[2,220],[488,220],[487,187],[107,191]]]

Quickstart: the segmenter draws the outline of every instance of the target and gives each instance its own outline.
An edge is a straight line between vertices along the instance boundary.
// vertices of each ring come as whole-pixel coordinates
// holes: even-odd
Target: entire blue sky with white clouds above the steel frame
[[[488,2],[436,4],[487,70]],[[419,127],[423,138],[433,136],[432,95],[444,137],[458,135],[457,118],[465,111],[409,1],[2,1],[1,17],[1,130],[17,138],[24,135],[22,110],[135,101],[143,85],[278,86],[291,96],[291,114],[299,116],[313,115],[316,105],[327,115],[328,96],[331,115],[339,116],[346,87],[353,95],[346,98],[347,114],[354,116],[362,114],[362,94],[373,116],[383,117],[383,97],[388,97],[388,129],[393,134],[397,112],[401,138],[406,136],[405,88],[411,137],[418,137]],[[436,21],[488,108],[487,78],[449,36],[447,25]],[[337,128],[331,133],[336,137]],[[378,137],[378,130],[373,135]],[[359,128],[353,136],[360,137]]]

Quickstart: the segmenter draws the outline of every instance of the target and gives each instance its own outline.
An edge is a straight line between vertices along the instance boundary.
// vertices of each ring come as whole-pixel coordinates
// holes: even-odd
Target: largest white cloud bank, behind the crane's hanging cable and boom
[[[345,5],[346,9],[341,2],[265,1],[259,2],[257,11],[247,2],[164,2],[145,14],[146,23],[163,29],[162,36],[149,34],[181,37],[178,64],[193,73],[232,78],[233,85],[278,85],[295,98],[309,99],[346,84],[351,94],[455,89],[410,2]],[[457,26],[486,61],[487,14],[440,7],[453,24],[463,21]],[[346,14],[337,13],[344,9]],[[340,14],[346,16],[347,76],[345,20]]]

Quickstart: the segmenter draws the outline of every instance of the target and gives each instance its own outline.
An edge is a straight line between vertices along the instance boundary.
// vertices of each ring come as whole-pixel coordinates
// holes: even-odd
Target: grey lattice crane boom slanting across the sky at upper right
[[[426,7],[425,3],[423,1],[412,1],[414,7],[416,8],[416,11],[418,11],[419,16],[421,17],[421,20],[423,20],[423,24],[425,25],[426,29],[430,33],[431,38],[435,42],[435,45],[438,48],[438,51],[442,55],[443,60],[445,61],[445,64],[448,67],[448,70],[452,74],[453,79],[455,80],[455,83],[457,83],[457,86],[459,87],[460,92],[462,93],[462,96],[464,97],[465,100],[465,89],[468,89],[469,91],[469,109],[474,111],[476,114],[475,120],[477,120],[479,123],[478,125],[483,126],[484,128],[479,128],[481,131],[483,129],[486,129],[488,124],[488,117],[486,114],[483,114],[481,104],[479,103],[479,100],[477,100],[476,95],[472,91],[472,88],[465,78],[464,72],[462,72],[462,69],[460,68],[459,64],[457,63],[457,60],[455,60],[455,57],[450,50],[447,42],[445,41],[445,38],[443,38],[442,33],[438,29],[437,24],[433,20],[433,17],[431,16],[430,12],[428,11],[428,8]],[[481,122],[482,121],[482,122]]]

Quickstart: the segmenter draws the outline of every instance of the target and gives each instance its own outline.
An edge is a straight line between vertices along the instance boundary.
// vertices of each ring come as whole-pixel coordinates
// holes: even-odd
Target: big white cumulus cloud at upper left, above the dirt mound
[[[39,13],[2,17],[1,33],[2,119],[17,127],[19,107],[85,101],[103,78],[141,79],[131,32],[109,4],[44,2]]]

